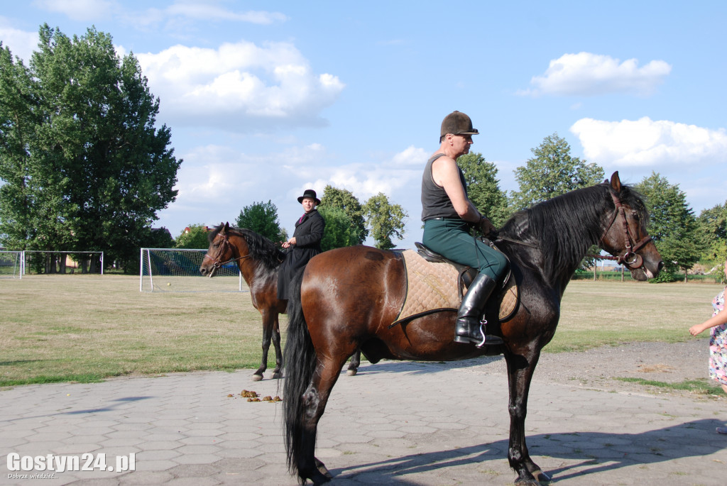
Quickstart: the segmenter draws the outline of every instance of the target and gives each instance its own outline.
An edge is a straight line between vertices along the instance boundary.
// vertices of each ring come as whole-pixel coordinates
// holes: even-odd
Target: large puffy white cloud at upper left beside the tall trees
[[[313,73],[286,42],[241,41],[219,49],[177,45],[137,58],[161,98],[161,119],[230,131],[324,126],[319,113],[345,86],[337,76]]]

